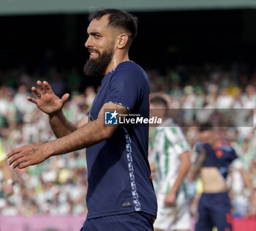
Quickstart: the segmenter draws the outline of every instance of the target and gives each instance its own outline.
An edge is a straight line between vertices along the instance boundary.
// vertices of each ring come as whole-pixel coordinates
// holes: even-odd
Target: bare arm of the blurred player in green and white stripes
[[[165,197],[165,205],[172,205],[176,200],[176,193],[178,192],[181,183],[184,181],[187,173],[189,173],[189,168],[191,165],[189,152],[185,151],[179,156],[181,164],[178,168],[178,175],[176,181],[173,183],[173,186],[168,192],[167,197]]]

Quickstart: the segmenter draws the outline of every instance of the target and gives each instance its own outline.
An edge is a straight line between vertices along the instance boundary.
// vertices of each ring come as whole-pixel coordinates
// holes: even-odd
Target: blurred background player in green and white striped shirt
[[[189,172],[189,145],[181,129],[167,116],[167,102],[152,96],[151,116],[162,118],[151,153],[158,212],[154,230],[190,230],[191,222],[184,179]]]

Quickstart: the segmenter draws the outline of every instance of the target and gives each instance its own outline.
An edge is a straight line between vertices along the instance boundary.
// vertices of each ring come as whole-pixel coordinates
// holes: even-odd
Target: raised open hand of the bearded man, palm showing
[[[28,96],[27,99],[37,105],[42,112],[48,115],[60,111],[64,106],[64,103],[69,98],[69,94],[64,94],[60,99],[56,94],[54,94],[50,84],[46,81],[41,82],[38,80],[37,86],[39,86],[39,89],[34,86],[31,88],[31,91],[34,92],[37,98]]]

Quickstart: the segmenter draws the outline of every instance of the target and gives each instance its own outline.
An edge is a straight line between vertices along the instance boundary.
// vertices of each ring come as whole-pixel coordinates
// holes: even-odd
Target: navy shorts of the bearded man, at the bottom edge
[[[153,231],[154,216],[134,212],[86,219],[80,231]]]

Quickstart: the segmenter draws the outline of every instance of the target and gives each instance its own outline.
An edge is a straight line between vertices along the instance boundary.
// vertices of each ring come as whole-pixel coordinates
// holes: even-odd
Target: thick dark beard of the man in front
[[[105,71],[113,58],[113,45],[110,45],[110,47],[108,47],[102,53],[99,53],[99,51],[97,50],[95,50],[95,52],[99,54],[99,57],[89,58],[89,60],[86,61],[86,64],[83,67],[83,72],[85,73],[85,75],[92,77],[105,75]]]

